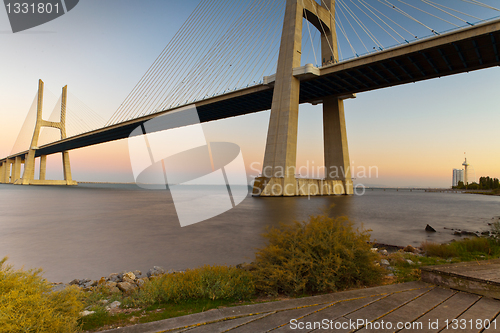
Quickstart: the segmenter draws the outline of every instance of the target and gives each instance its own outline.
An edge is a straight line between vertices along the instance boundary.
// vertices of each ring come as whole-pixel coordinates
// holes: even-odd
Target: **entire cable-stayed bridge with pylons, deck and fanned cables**
[[[342,100],[500,65],[500,21],[490,19],[496,14],[475,0],[256,0],[238,8],[200,2],[105,126],[63,135],[65,92],[59,121],[44,122],[39,107],[35,128],[58,128],[61,140],[33,144],[35,130],[31,145],[0,160],[0,182],[74,184],[69,150],[127,138],[146,121],[194,103],[201,122],[271,109],[263,177],[254,193],[352,193]],[[399,44],[385,46],[392,40]],[[40,93],[37,105],[39,99]],[[340,176],[295,178],[301,103],[323,104],[325,164],[342,169]],[[35,179],[34,159],[42,166],[59,152],[65,180],[46,181],[42,171]],[[302,193],[301,182],[317,189]]]

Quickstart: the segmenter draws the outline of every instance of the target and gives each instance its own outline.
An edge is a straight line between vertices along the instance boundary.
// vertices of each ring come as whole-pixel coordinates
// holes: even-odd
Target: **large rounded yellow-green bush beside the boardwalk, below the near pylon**
[[[257,290],[300,295],[379,282],[382,269],[370,251],[369,231],[355,229],[346,217],[326,215],[269,229],[269,243],[256,253],[252,271]]]

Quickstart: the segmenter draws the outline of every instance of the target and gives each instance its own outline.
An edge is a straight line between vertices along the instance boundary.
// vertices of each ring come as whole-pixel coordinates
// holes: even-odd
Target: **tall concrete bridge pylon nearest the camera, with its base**
[[[344,104],[338,97],[331,96],[322,101],[325,178],[295,176],[300,78],[294,72],[301,72],[303,18],[321,33],[323,65],[338,61],[335,0],[321,3],[310,0],[286,2],[264,164],[262,176],[254,182],[254,196],[353,193]]]

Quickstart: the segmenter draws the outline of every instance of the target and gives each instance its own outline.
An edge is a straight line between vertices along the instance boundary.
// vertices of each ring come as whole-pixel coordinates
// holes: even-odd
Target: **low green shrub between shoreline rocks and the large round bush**
[[[196,299],[240,300],[254,292],[249,272],[231,266],[203,266],[154,278],[134,292],[128,302],[135,306]]]

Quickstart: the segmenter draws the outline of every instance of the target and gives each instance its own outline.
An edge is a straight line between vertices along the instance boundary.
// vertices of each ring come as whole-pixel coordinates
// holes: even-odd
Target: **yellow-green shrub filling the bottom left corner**
[[[0,260],[0,332],[74,332],[83,310],[81,292],[51,292],[41,270],[14,270]]]

